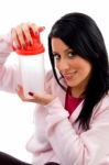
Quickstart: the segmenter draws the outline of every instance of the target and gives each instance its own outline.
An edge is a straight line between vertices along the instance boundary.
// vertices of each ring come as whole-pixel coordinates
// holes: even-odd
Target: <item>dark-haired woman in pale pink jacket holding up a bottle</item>
[[[25,47],[23,34],[32,44],[30,26],[36,35],[40,33],[34,24],[21,24],[12,30],[11,37],[19,48]],[[10,40],[7,43],[2,50],[6,53],[1,54],[0,86],[15,91],[20,75],[13,68],[4,70]],[[33,153],[32,164],[108,165],[109,64],[96,22],[84,13],[62,16],[50,32],[48,54],[52,70],[45,76],[46,94],[30,91],[33,99],[29,100],[22,87],[18,88],[23,101],[39,103],[34,113],[35,133],[26,145]],[[7,78],[9,81],[3,87]]]

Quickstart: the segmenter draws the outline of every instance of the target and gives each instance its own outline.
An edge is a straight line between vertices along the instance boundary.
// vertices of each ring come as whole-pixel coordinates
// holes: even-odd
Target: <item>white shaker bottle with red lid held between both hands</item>
[[[25,98],[32,98],[29,92],[44,91],[44,46],[40,35],[32,34],[33,44],[26,48],[15,50],[19,55],[21,81]]]

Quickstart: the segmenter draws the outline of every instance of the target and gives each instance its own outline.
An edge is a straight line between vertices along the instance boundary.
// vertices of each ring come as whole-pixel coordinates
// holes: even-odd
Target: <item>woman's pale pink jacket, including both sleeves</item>
[[[11,35],[0,37],[0,89],[17,92],[17,86],[21,84],[18,65],[6,64],[12,52],[11,41]],[[66,87],[63,79],[61,82]],[[85,131],[75,122],[84,100],[78,106],[73,101],[73,108],[68,99],[68,109],[77,106],[69,117],[65,109],[66,92],[58,86],[52,70],[45,76],[45,91],[57,97],[48,105],[35,108],[35,130],[26,144],[28,151],[33,154],[32,164],[109,165],[109,92],[95,106],[89,130]]]

